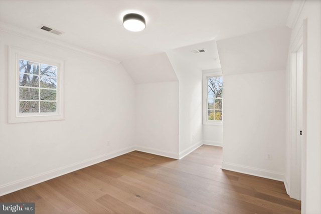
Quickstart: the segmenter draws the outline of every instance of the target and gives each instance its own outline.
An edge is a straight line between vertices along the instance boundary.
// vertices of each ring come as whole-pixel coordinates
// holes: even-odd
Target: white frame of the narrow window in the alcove
[[[221,68],[203,70],[203,124],[204,125],[223,125],[223,120],[208,120],[207,117],[207,78],[210,76],[223,76]],[[223,78],[224,82],[224,78]],[[224,97],[224,83],[223,83],[223,97]],[[224,100],[224,98],[222,98]],[[224,101],[223,101],[224,103]],[[222,104],[223,104],[222,103]],[[222,108],[224,108],[222,106]],[[222,109],[224,115],[224,109]]]

